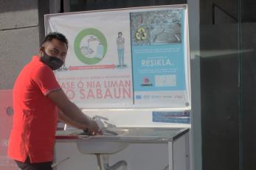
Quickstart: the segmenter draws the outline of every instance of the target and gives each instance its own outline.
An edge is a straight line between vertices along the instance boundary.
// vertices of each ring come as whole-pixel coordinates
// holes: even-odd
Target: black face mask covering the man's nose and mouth
[[[60,60],[58,57],[49,56],[46,52],[44,52],[44,55],[41,57],[41,61],[52,68],[52,70],[57,70],[64,63],[63,60]]]

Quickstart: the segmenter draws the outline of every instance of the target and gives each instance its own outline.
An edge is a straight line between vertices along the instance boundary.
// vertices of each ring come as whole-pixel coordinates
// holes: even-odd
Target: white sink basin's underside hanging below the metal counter
[[[77,149],[83,154],[113,154],[129,144],[113,141],[77,141]]]

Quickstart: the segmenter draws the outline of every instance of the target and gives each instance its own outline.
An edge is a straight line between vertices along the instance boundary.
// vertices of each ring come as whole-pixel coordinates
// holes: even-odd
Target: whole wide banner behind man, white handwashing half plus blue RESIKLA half
[[[55,75],[81,108],[190,108],[187,6],[45,16],[69,40]]]

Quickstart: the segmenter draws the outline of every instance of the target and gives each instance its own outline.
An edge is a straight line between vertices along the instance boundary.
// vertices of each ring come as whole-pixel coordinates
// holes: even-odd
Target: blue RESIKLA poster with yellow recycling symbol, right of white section
[[[188,107],[184,9],[130,15],[135,105]]]

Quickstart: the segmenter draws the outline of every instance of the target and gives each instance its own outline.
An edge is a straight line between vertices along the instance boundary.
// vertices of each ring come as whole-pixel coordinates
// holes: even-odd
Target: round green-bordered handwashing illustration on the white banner
[[[77,58],[88,65],[99,63],[107,52],[107,40],[94,28],[83,29],[77,34],[74,44]]]

